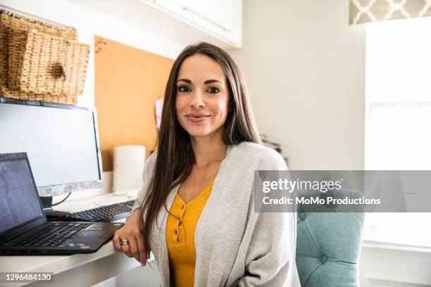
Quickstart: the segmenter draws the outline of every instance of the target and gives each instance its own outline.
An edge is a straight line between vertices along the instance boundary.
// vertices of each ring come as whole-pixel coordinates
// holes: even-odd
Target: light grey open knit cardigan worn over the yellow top
[[[156,153],[146,162],[139,208],[153,172]],[[294,212],[254,212],[254,170],[287,170],[272,148],[243,142],[227,146],[213,189],[196,225],[194,286],[301,286],[296,271]],[[170,209],[179,185],[168,195]],[[151,229],[151,252],[162,286],[173,286],[166,246],[165,208]]]

